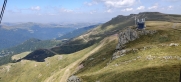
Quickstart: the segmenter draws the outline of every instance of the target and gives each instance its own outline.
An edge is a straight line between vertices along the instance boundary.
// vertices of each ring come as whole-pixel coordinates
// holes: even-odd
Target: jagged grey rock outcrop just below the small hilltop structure
[[[133,41],[137,38],[139,38],[141,35],[147,35],[147,34],[154,34],[156,31],[153,30],[137,30],[133,28],[126,28],[125,30],[121,31],[118,35],[119,42],[116,46],[116,52],[113,54],[112,59],[119,58],[123,55],[125,55],[127,52],[131,51],[130,49],[124,49],[125,44],[129,41]]]

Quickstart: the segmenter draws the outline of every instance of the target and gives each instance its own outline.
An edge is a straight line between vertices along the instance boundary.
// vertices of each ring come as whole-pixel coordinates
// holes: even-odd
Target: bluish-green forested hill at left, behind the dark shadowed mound
[[[15,54],[20,54],[23,52],[32,52],[36,49],[43,49],[43,48],[51,48],[55,47],[58,44],[61,44],[60,40],[39,40],[39,39],[29,39],[23,42],[20,45],[17,45],[12,48],[4,49],[0,51],[0,65],[12,62],[11,57]]]

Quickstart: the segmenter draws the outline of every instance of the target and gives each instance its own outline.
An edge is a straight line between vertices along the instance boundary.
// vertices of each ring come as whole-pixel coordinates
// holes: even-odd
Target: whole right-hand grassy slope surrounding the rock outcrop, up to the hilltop
[[[85,60],[85,67],[77,72],[84,82],[178,82],[181,68],[180,24],[172,28],[169,22],[147,22],[147,29],[158,30],[154,35],[142,36],[127,44],[127,48],[137,48],[116,60],[102,58],[110,53],[105,50],[92,55],[94,60]],[[116,45],[114,45],[116,46]],[[143,47],[149,47],[144,50]],[[109,50],[108,50],[109,51]],[[104,53],[104,54],[101,54]],[[99,55],[99,56],[98,56]]]

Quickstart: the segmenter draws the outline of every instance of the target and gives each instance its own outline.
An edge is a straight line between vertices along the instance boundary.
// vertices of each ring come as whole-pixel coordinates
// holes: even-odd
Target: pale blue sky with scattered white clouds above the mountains
[[[2,22],[103,23],[139,12],[181,14],[181,0],[8,0]]]

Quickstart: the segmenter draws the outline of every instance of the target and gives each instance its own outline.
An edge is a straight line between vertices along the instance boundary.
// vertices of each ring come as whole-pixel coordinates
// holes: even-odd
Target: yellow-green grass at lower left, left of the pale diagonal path
[[[73,54],[55,55],[47,58],[45,62],[22,60],[21,62],[0,66],[0,82],[43,82],[48,77],[56,75],[60,70],[84,56],[96,46],[95,44]],[[6,66],[10,66],[9,71],[7,71]],[[62,73],[64,71],[57,74],[56,77],[60,77]]]

